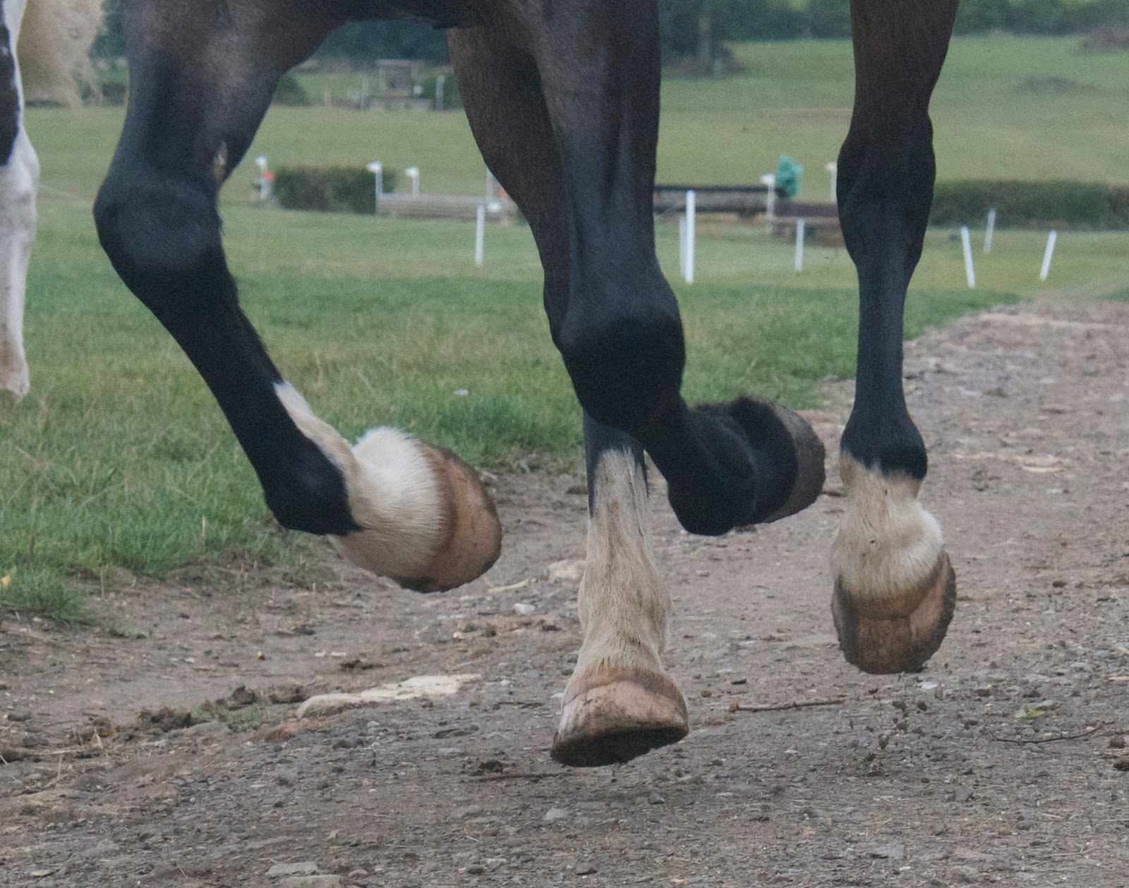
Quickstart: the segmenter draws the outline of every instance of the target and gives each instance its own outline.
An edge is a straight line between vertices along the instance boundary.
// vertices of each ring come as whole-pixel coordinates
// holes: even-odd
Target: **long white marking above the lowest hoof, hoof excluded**
[[[651,564],[648,517],[642,467],[631,454],[604,454],[580,581],[584,643],[574,680],[624,669],[663,671],[671,594]]]

